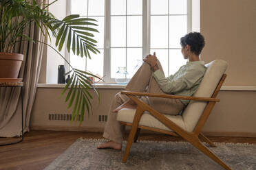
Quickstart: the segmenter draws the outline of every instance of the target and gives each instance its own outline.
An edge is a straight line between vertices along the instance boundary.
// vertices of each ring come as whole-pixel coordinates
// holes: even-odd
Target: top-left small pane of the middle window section
[[[111,0],[111,15],[125,15],[126,0]]]

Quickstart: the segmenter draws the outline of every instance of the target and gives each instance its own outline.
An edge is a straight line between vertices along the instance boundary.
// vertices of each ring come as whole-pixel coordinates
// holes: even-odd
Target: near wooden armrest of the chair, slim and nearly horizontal
[[[192,97],[192,96],[180,96],[180,95],[167,95],[167,94],[153,94],[153,93],[138,93],[132,91],[121,91],[122,94],[125,95],[135,95],[135,96],[149,96],[149,97],[162,97],[169,99],[184,99],[184,100],[195,100],[195,101],[214,101],[219,102],[220,99],[215,99],[211,97]]]

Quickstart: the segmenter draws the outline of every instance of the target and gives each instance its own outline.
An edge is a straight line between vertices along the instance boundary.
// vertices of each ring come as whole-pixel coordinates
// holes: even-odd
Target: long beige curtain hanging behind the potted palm
[[[32,1],[32,0],[30,0]],[[45,0],[37,0],[46,3]],[[47,42],[41,31],[30,25],[25,30],[34,40]],[[41,60],[44,45],[42,43],[21,41],[17,43],[14,53],[23,53],[24,60],[21,65],[19,77],[23,78],[23,127],[24,132],[29,132],[30,115],[36,95],[36,84],[39,80]],[[21,88],[0,88],[0,136],[21,136]]]

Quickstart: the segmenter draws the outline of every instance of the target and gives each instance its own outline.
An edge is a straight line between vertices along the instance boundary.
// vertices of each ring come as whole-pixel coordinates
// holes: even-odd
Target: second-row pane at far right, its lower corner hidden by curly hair
[[[187,32],[186,16],[169,16],[169,47],[180,48],[180,38]]]

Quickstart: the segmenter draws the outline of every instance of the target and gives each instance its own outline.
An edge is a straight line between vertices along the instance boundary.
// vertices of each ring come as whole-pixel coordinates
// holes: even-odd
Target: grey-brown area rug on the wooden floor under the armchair
[[[114,149],[96,149],[105,140],[83,139],[73,143],[61,156],[58,156],[45,170],[78,169],[223,169],[209,157],[186,142],[138,141],[124,164],[121,162],[125,151]],[[256,145],[215,143],[209,147],[232,169],[256,169]]]

